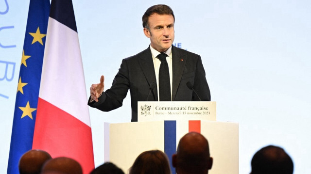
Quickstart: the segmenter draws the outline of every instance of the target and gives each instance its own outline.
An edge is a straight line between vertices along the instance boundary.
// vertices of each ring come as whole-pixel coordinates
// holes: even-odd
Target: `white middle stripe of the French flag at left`
[[[49,17],[39,97],[90,126],[78,33]]]

